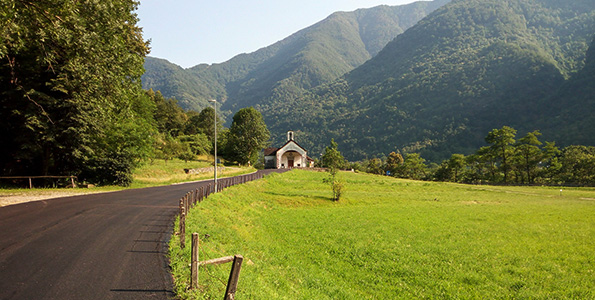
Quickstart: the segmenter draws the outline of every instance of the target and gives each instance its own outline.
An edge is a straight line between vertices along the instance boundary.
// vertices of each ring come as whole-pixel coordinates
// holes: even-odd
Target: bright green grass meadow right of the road
[[[193,208],[170,255],[182,298],[220,299],[241,254],[237,299],[594,299],[595,190],[491,187],[294,170],[235,186]],[[177,225],[176,225],[177,228]],[[208,234],[208,237],[206,236]]]

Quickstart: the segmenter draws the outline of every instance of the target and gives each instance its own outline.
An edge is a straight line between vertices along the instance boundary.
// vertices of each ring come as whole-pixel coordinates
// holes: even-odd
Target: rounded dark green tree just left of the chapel
[[[260,112],[254,107],[242,108],[233,116],[229,128],[227,155],[241,164],[254,164],[269,138],[269,130]]]

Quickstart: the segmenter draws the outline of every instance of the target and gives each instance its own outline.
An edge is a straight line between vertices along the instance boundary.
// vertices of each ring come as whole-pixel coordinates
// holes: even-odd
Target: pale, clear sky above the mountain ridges
[[[221,63],[269,46],[336,11],[414,0],[140,0],[149,56],[184,68]]]

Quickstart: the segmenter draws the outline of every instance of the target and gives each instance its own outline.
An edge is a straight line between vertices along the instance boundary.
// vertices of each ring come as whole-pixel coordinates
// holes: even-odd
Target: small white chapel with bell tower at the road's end
[[[287,132],[287,142],[281,148],[264,149],[264,167],[266,169],[311,168],[314,160],[295,140],[293,131]]]

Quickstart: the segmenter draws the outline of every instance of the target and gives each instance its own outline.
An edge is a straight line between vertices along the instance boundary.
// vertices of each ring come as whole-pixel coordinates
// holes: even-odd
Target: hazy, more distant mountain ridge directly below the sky
[[[211,98],[224,99],[223,109],[233,111],[295,98],[360,66],[448,1],[337,12],[271,46],[221,64],[183,69],[148,57],[143,87],[160,90],[183,108],[196,110]]]

